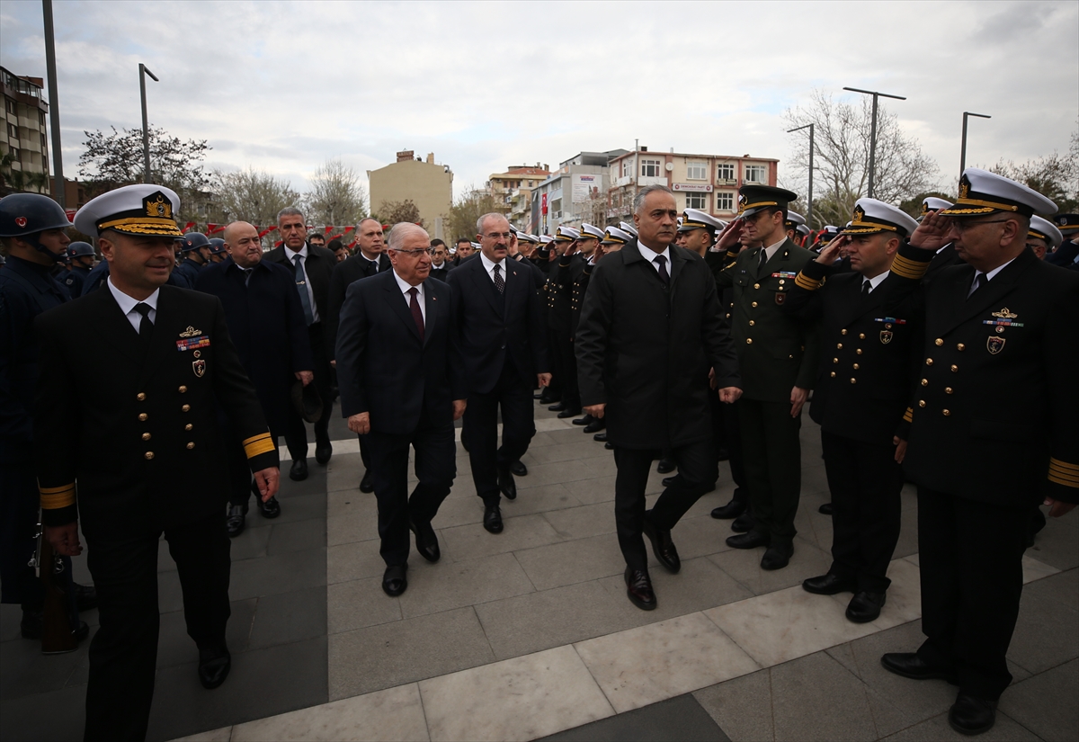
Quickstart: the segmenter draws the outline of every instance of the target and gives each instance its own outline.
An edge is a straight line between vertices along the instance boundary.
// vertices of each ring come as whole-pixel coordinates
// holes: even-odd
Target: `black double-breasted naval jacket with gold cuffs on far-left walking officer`
[[[81,514],[96,535],[222,512],[229,473],[219,409],[252,470],[277,465],[216,297],[162,286],[148,349],[108,288],[42,314],[36,328],[33,437],[42,442],[47,524]]]

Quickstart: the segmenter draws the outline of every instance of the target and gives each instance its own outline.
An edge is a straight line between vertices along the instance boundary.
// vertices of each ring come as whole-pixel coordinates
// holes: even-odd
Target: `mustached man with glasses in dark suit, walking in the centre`
[[[500,214],[476,221],[480,252],[447,278],[453,325],[468,374],[468,456],[483,527],[502,533],[501,496],[517,498],[510,467],[535,435],[532,389],[550,382],[546,328],[531,269],[507,258],[509,222]],[[498,446],[498,412],[502,445]]]

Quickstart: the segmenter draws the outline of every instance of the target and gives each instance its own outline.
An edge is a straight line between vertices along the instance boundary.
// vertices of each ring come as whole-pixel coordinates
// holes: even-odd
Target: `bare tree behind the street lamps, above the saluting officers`
[[[808,105],[783,112],[784,128],[814,124],[814,229],[845,224],[855,202],[869,190],[870,132],[873,108],[868,98],[858,104],[837,102],[831,94],[814,91]],[[803,136],[805,134],[805,136]],[[808,186],[809,137],[794,139],[792,175],[784,180],[803,193]],[[912,194],[930,190],[937,163],[918,141],[899,126],[898,116],[882,105],[877,111],[874,197],[898,204]],[[790,171],[790,170],[789,170]]]

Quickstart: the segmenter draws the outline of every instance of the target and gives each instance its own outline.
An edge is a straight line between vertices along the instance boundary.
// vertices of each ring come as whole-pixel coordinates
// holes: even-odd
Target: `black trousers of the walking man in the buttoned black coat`
[[[614,482],[614,517],[623,559],[633,569],[648,568],[648,554],[641,538],[644,523],[644,491],[648,472],[658,450],[615,446],[614,463],[618,473]],[[718,468],[711,439],[670,449],[679,476],[664,490],[652,507],[650,518],[656,527],[670,530],[715,482]]]

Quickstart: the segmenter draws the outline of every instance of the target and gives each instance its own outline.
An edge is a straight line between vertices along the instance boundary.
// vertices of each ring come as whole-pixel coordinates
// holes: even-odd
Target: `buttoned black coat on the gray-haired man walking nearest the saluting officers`
[[[636,239],[603,256],[581,313],[581,401],[606,403],[607,438],[627,449],[709,438],[709,368],[721,388],[741,386],[711,270],[696,252],[672,245],[670,256],[669,289]]]

